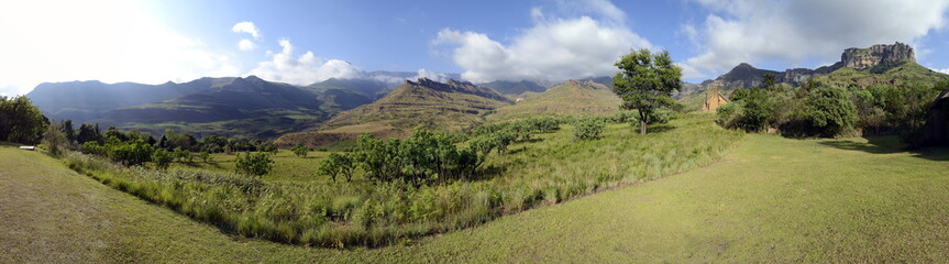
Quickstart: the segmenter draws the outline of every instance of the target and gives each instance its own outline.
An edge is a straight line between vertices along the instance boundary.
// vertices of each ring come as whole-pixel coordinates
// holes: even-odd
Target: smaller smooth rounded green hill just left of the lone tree
[[[582,116],[619,112],[621,99],[609,88],[594,81],[569,80],[561,86],[497,109],[489,120],[529,116]]]

